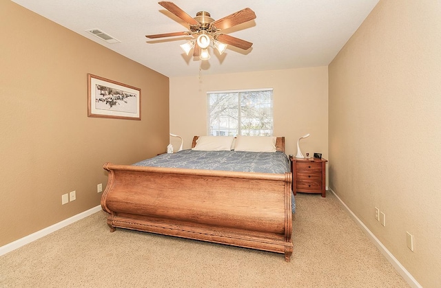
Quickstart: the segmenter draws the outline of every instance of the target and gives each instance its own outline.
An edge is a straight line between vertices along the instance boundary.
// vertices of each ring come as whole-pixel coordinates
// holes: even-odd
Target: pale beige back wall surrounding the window
[[[310,133],[302,153],[327,157],[327,67],[170,78],[170,132],[190,148],[194,135],[207,135],[207,91],[258,88],[274,89],[274,135],[285,136],[286,153],[295,155],[298,138]]]

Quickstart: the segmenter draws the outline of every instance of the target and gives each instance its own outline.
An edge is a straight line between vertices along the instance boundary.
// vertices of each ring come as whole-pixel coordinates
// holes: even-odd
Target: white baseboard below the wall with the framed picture
[[[59,223],[55,223],[54,225],[51,225],[47,228],[44,228],[42,230],[39,230],[37,232],[34,232],[28,236],[24,236],[21,239],[18,239],[14,242],[8,243],[6,245],[3,245],[0,247],[0,256],[4,255],[8,252],[11,252],[12,250],[16,250],[17,248],[26,245],[28,243],[31,243],[32,241],[36,241],[37,239],[40,239],[43,236],[46,236],[52,232],[55,232],[69,224],[72,224],[76,221],[79,221],[80,219],[83,219],[85,217],[88,217],[96,212],[99,212],[101,210],[101,205],[96,206],[94,208],[90,208],[89,210],[86,210],[84,212],[81,212],[80,214],[76,214],[68,219],[65,219]]]

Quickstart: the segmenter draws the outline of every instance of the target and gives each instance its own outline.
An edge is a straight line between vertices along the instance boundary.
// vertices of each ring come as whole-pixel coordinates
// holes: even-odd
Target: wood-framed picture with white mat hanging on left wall
[[[88,74],[88,117],[141,120],[141,89]]]

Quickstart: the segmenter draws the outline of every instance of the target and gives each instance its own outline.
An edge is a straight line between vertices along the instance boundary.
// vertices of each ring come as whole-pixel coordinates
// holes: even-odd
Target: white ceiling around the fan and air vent
[[[183,37],[145,35],[187,31],[181,19],[152,0],[12,0],[168,77],[326,66],[379,0],[173,0],[190,16],[207,11],[217,20],[251,8],[254,21],[225,33],[254,43],[229,46],[201,61],[179,47]],[[108,44],[85,30],[99,29],[121,43]]]

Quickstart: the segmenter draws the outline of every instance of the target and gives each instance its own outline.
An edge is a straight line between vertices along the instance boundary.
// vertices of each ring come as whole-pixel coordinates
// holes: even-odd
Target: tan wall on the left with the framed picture
[[[169,79],[11,1],[0,35],[1,246],[99,205],[104,162],[165,151]],[[88,73],[141,88],[142,120],[88,118]]]

